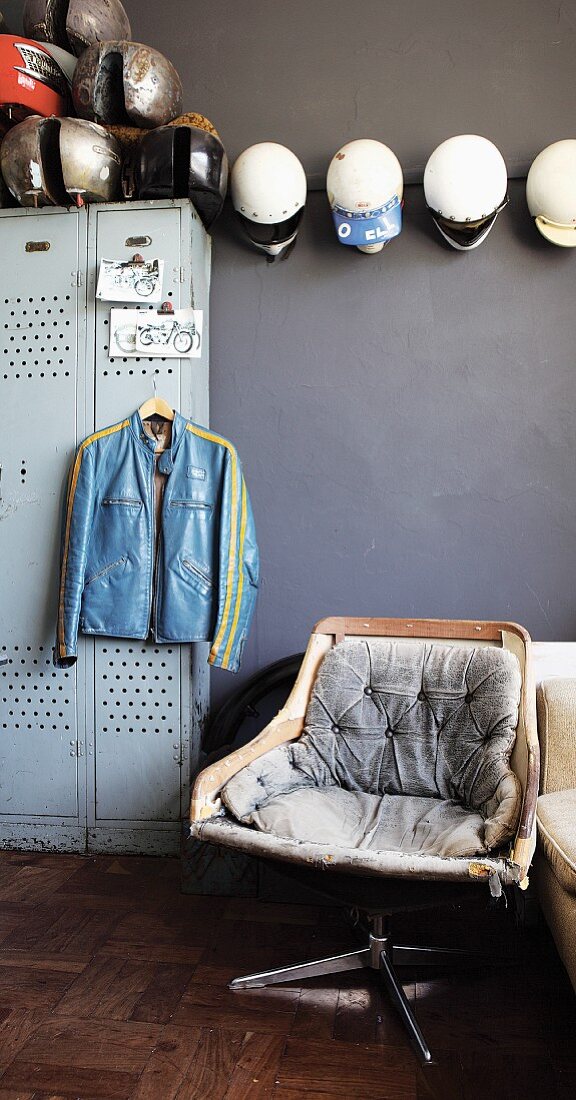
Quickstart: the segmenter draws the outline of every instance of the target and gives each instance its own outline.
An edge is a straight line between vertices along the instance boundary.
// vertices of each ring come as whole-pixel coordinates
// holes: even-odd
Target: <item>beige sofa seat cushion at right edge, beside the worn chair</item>
[[[576,790],[538,800],[538,839],[560,884],[576,894]]]

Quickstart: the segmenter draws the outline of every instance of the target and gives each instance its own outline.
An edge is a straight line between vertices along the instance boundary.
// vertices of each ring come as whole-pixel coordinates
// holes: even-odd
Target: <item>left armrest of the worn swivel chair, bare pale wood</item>
[[[235,776],[242,768],[245,768],[253,760],[275,749],[285,741],[292,741],[299,737],[304,724],[303,717],[290,718],[286,712],[279,711],[254,740],[243,748],[236,749],[228,757],[213,763],[210,768],[204,768],[198,776],[192,790],[190,802],[190,821],[199,822],[206,817],[212,817],[221,809],[220,791],[228,783],[232,776]]]

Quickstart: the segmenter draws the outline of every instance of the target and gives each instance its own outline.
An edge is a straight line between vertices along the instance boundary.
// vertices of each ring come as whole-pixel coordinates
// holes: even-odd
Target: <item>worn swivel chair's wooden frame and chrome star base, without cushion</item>
[[[315,678],[326,653],[344,639],[381,638],[392,641],[411,639],[476,649],[495,646],[507,649],[517,658],[521,673],[520,705],[516,741],[510,768],[521,788],[521,809],[516,835],[496,850],[474,855],[444,857],[412,855],[410,851],[363,848],[339,848],[328,853],[326,846],[314,840],[290,840],[283,835],[268,835],[242,824],[224,812],[220,792],[228,781],[244,768],[258,761],[280,745],[295,741],[303,732],[304,718]],[[457,948],[401,946],[392,942],[389,917],[402,910],[434,909],[470,898],[470,891],[484,884],[495,897],[502,886],[525,888],[528,870],[535,846],[535,805],[539,783],[539,746],[535,726],[535,692],[532,679],[530,637],[511,623],[479,623],[439,619],[359,619],[329,618],[312,631],[302,666],[292,692],[273,722],[248,745],[207,768],[197,779],[191,802],[191,835],[223,847],[236,848],[257,858],[265,857],[284,865],[286,870],[310,886],[310,877],[321,879],[315,889],[332,902],[364,912],[367,939],[364,946],[343,955],[302,963],[296,966],[263,970],[231,982],[233,990],[248,990],[289,981],[304,981],[323,975],[358,970],[377,970],[384,986],[407,1028],[411,1046],[423,1064],[432,1054],[402,989],[395,967],[411,965],[451,966],[454,963],[486,965],[496,961],[492,955],[470,955]],[[365,689],[372,693],[372,688]],[[419,696],[420,697],[420,696]],[[468,695],[466,695],[466,701]],[[336,732],[340,733],[339,727]],[[344,882],[344,887],[343,887]],[[487,891],[488,893],[488,891]],[[489,897],[488,893],[488,897]],[[501,960],[498,960],[501,961]]]

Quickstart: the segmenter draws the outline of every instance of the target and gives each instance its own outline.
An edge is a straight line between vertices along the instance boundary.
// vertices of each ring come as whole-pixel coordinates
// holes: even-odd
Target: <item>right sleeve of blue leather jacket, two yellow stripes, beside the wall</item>
[[[237,672],[259,583],[254,516],[240,461],[226,452],[219,548],[219,600],[210,664]]]

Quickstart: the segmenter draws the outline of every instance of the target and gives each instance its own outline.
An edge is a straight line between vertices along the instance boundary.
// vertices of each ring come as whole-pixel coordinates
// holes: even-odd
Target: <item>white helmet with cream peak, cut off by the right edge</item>
[[[547,241],[576,245],[576,141],[556,141],[538,154],[528,173],[527,200]]]

